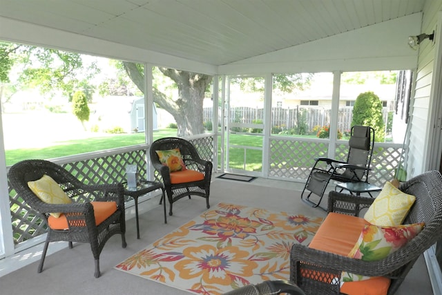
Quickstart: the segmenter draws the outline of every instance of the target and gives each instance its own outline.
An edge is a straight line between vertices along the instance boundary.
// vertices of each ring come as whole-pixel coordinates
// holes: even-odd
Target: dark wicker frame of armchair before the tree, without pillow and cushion
[[[180,149],[180,153],[187,169],[195,170],[204,174],[204,179],[195,182],[171,183],[171,174],[168,166],[164,166],[156,151],[165,151],[171,149]],[[162,179],[164,189],[167,193],[170,209],[169,215],[172,215],[173,203],[185,196],[200,196],[206,199],[206,207],[209,209],[210,182],[212,176],[213,164],[210,161],[202,160],[195,146],[187,140],[177,137],[164,137],[155,140],[149,150],[151,162],[158,176]],[[161,204],[161,202],[160,202]]]

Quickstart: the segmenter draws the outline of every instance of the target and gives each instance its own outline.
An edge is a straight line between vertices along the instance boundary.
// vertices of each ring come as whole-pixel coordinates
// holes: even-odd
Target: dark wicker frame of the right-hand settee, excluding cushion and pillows
[[[391,279],[387,294],[394,294],[417,258],[442,237],[441,173],[428,171],[401,184],[399,189],[416,196],[403,223],[425,222],[421,233],[387,258],[370,262],[295,244],[291,249],[291,280],[307,295],[340,294],[343,271],[363,276],[385,276]],[[331,191],[328,211],[358,216],[359,211],[369,207],[373,200]],[[323,276],[318,276],[319,273]]]

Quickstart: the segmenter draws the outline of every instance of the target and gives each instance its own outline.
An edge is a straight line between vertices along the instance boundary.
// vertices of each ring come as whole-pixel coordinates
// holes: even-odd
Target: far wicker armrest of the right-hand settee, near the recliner
[[[329,204],[327,211],[359,216],[361,209],[368,208],[374,202],[374,198],[349,195],[348,193],[329,192]]]

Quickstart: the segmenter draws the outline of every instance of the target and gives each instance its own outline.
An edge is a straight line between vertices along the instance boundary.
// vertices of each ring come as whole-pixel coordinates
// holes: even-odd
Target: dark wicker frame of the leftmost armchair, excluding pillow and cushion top
[[[41,201],[28,187],[29,181],[39,180],[43,175],[50,176],[59,184],[73,202],[70,204],[48,204]],[[13,165],[9,171],[9,180],[18,196],[28,206],[39,213],[46,225],[51,212],[64,213],[68,222],[67,229],[53,230],[48,226],[48,235],[44,245],[38,272],[43,270],[49,242],[67,241],[69,248],[73,242],[88,242],[95,258],[95,277],[100,275],[99,254],[104,244],[114,234],[122,235],[122,246],[126,247],[124,195],[122,184],[84,184],[63,167],[46,160],[24,160]],[[95,225],[93,205],[90,201],[115,201],[117,211],[106,220]]]

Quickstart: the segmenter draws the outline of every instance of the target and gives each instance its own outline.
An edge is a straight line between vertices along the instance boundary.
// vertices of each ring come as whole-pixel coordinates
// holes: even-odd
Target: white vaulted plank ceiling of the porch
[[[0,0],[0,17],[220,66],[412,15],[424,3]]]

